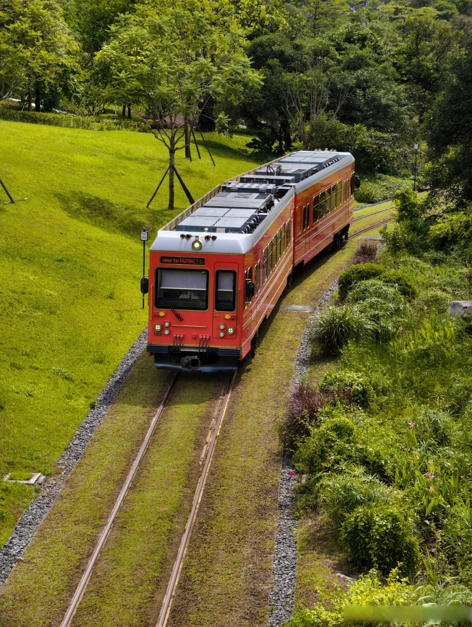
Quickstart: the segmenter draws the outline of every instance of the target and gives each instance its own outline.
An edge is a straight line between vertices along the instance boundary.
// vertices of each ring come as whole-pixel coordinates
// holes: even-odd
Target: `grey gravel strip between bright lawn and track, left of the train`
[[[60,475],[46,477],[41,493],[33,498],[28,508],[18,520],[9,539],[0,550],[0,589],[4,586],[16,562],[23,559],[23,553],[29,542],[36,534],[39,525],[45,519],[49,510],[53,506],[58,494],[61,492],[66,479],[72,472],[88,443],[92,439],[93,433],[105,418],[110,405],[115,400],[120,387],[126,381],[132,367],[137,362],[147,343],[147,329],[138,337],[127,354],[123,357],[120,365],[113,372],[107,384],[97,398],[97,405],[89,411],[80,427],[75,432],[72,440],[58,461]]]

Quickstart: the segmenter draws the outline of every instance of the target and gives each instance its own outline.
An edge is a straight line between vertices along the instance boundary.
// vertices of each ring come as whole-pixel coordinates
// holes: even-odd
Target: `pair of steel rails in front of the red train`
[[[204,486],[206,483],[206,478],[209,472],[209,468],[211,466],[211,460],[212,460],[212,456],[214,453],[216,440],[219,435],[219,430],[221,429],[221,423],[223,423],[224,413],[226,412],[226,407],[228,406],[229,396],[231,394],[231,389],[233,387],[235,376],[236,376],[236,372],[232,374],[228,374],[228,376],[226,377],[223,390],[221,391],[219,400],[216,403],[216,407],[214,409],[213,418],[212,418],[208,435],[206,437],[205,445],[204,445],[204,448],[202,450],[200,460],[199,460],[199,467],[202,468],[202,472],[201,472],[199,481],[197,483],[197,488],[194,494],[191,512],[187,519],[184,535],[182,536],[181,544],[179,546],[179,551],[177,552],[177,559],[172,569],[172,574],[170,576],[169,584],[167,585],[167,589],[166,589],[165,596],[164,596],[164,601],[162,603],[162,609],[159,614],[159,621],[157,623],[157,627],[164,627],[165,624],[167,623],[167,618],[169,617],[170,608],[172,606],[172,601],[174,599],[174,594],[176,592],[176,587],[179,582],[179,577],[180,577],[181,570],[182,570],[182,564],[184,562],[187,547],[189,545],[189,540],[191,538],[192,528],[196,520],[198,508],[200,505],[201,497],[202,497]],[[164,394],[164,399],[162,400],[162,403],[160,404],[159,409],[157,409],[157,412],[155,413],[155,416],[152,419],[152,422],[149,426],[147,434],[145,435],[144,441],[142,445],[140,446],[139,453],[137,454],[134,462],[132,463],[130,472],[128,473],[128,476],[125,482],[123,483],[123,487],[120,490],[120,493],[115,502],[115,505],[113,506],[112,512],[110,516],[108,517],[107,524],[105,525],[105,527],[103,527],[102,532],[100,533],[98,542],[95,545],[95,548],[93,549],[92,556],[90,557],[87,567],[80,579],[78,586],[76,587],[76,591],[73,594],[73,597],[68,606],[68,609],[66,610],[65,616],[61,622],[60,627],[70,627],[70,625],[72,624],[77,608],[80,605],[80,602],[83,598],[83,594],[85,593],[85,590],[87,589],[87,586],[88,586],[88,582],[90,581],[90,577],[92,576],[93,567],[95,566],[95,564],[97,564],[98,557],[100,556],[100,553],[103,549],[103,546],[105,545],[105,542],[107,541],[108,534],[118,514],[118,510],[120,510],[123,500],[125,499],[127,495],[128,488],[130,487],[137,473],[140,462],[142,461],[145,455],[145,452],[147,451],[149,442],[152,438],[152,435],[155,431],[157,424],[159,423],[160,416],[162,415],[162,412],[164,411],[165,406],[169,401],[169,398],[172,394],[172,391],[176,385],[178,378],[179,378],[179,373],[177,372],[172,378],[172,381],[170,382],[170,385]]]

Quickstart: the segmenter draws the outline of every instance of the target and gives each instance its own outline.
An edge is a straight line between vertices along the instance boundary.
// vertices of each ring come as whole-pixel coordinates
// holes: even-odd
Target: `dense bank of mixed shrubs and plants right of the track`
[[[469,603],[472,327],[448,314],[471,297],[470,244],[451,234],[467,214],[438,219],[411,190],[394,199],[386,249],[360,247],[364,263],[340,275],[313,324],[336,367],[292,395],[283,434],[307,475],[300,513],[323,512],[353,569],[373,569],[369,581],[395,572],[395,603],[425,603],[425,590],[431,603]],[[338,624],[366,586],[293,625]],[[364,602],[376,603],[369,590]]]

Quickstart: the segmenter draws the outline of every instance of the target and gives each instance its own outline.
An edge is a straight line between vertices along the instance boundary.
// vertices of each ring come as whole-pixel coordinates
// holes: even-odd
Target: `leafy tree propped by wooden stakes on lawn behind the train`
[[[244,32],[218,3],[187,1],[161,12],[139,6],[119,16],[96,65],[110,97],[139,103],[169,150],[169,209],[174,209],[175,155],[208,98],[237,100],[244,83],[260,82],[243,52]]]

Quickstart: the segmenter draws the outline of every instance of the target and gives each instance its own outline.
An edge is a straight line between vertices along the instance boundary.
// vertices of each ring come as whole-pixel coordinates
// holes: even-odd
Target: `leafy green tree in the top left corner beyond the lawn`
[[[23,83],[48,83],[77,46],[55,0],[0,0],[0,100]]]

